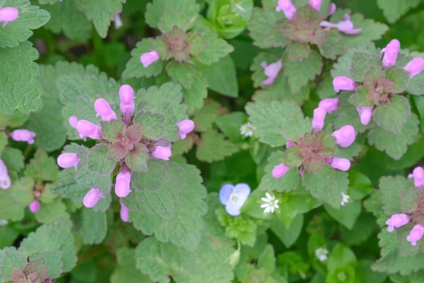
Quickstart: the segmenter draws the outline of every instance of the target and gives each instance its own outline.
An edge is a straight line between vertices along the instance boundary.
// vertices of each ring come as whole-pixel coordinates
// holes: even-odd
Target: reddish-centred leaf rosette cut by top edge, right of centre
[[[285,50],[271,54],[259,54],[251,69],[255,87],[261,87],[255,100],[281,100],[289,98],[306,100],[309,89],[307,84],[322,73],[329,63],[326,59],[336,59],[348,48],[364,45],[372,40],[379,40],[388,30],[387,25],[365,20],[363,16],[351,16],[355,28],[362,29],[356,35],[346,35],[336,28],[322,28],[322,21],[338,23],[343,15],[351,13],[347,9],[338,9],[329,16],[331,3],[322,1],[319,11],[314,10],[307,1],[292,1],[297,12],[293,20],[285,18],[282,11],[276,11],[277,1],[263,0],[262,8],[255,7],[252,12],[249,34],[254,45],[261,49],[284,47]],[[314,47],[314,45],[316,47]],[[264,69],[262,62],[270,64],[283,60],[283,69],[276,81],[264,86]],[[322,80],[317,81],[319,83]],[[281,91],[281,88],[285,91]],[[293,94],[295,96],[293,96]]]

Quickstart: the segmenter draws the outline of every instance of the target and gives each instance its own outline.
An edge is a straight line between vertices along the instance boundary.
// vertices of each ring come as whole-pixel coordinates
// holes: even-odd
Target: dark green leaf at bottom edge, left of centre
[[[151,279],[136,269],[136,260],[134,255],[134,250],[130,248],[119,248],[119,250],[117,250],[117,267],[110,277],[111,283],[153,283]]]

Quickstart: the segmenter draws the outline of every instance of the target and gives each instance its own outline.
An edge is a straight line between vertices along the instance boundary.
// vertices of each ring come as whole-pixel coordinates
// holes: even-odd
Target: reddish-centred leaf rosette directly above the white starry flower
[[[276,151],[269,158],[265,175],[259,187],[264,190],[290,192],[302,183],[313,197],[332,207],[341,206],[341,192],[348,190],[348,173],[331,168],[326,161],[336,156],[336,139],[330,132],[312,132],[310,118],[303,117],[302,110],[293,100],[273,103],[248,103],[249,121],[256,128],[254,136],[271,146],[283,146],[286,141],[295,145],[285,151]],[[290,170],[281,178],[273,178],[274,166],[284,163]]]

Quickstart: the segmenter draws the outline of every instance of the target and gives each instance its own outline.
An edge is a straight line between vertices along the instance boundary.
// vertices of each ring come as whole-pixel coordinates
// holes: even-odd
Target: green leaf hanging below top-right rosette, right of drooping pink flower
[[[307,59],[299,61],[288,61],[287,57],[283,59],[284,75],[288,76],[288,84],[292,93],[298,93],[309,81],[315,79],[315,76],[322,71],[322,57],[314,50],[310,52]]]

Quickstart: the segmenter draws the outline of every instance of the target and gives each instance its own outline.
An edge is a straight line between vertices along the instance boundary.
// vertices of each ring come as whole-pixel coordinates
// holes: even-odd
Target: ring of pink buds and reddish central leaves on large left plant
[[[88,120],[78,120],[78,117],[71,116],[69,124],[76,129],[79,136],[84,139],[89,137],[100,141],[102,144],[109,144],[109,151],[107,158],[116,161],[120,164],[119,173],[116,176],[116,183],[114,185],[114,192],[117,197],[126,197],[131,192],[131,171],[136,171],[131,168],[128,161],[129,154],[136,154],[138,149],[143,148],[148,151],[148,154],[154,158],[160,158],[165,161],[169,160],[171,156],[171,144],[169,141],[163,140],[148,140],[142,138],[143,129],[136,124],[134,118],[134,110],[136,105],[134,103],[134,90],[129,85],[124,85],[119,89],[121,112],[117,115],[110,103],[103,98],[95,100],[94,109],[97,112],[97,117],[101,117],[102,127],[110,127],[113,121],[119,126],[122,125],[122,132],[114,132],[113,139],[109,136],[105,137],[102,133],[102,127],[93,124]],[[194,129],[194,122],[192,120],[183,120],[177,123],[179,127],[179,137],[184,139],[189,132]],[[114,130],[113,128],[112,131]],[[136,157],[137,158],[137,157]],[[57,158],[57,163],[61,168],[74,167],[78,170],[78,163],[81,161],[76,153],[64,153]],[[98,187],[93,187],[87,192],[83,199],[83,204],[86,207],[94,207],[98,201],[105,197],[103,192]],[[121,216],[123,221],[128,221],[128,207],[121,203]]]

